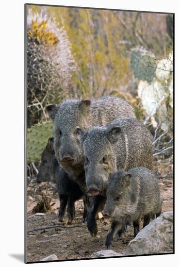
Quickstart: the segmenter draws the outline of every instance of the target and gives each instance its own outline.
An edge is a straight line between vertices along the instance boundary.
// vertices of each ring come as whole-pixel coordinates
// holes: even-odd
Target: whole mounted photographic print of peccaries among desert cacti
[[[173,28],[25,5],[26,263],[174,253]]]

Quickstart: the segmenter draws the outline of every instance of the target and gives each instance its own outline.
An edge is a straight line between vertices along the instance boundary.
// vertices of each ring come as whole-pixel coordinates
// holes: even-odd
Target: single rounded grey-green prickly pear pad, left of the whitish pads
[[[155,77],[156,62],[154,54],[143,48],[133,49],[130,65],[136,78],[150,83]]]

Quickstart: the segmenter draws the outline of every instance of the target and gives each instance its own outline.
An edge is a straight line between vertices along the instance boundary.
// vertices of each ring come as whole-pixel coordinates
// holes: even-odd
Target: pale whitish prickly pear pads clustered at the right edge
[[[152,125],[166,131],[173,121],[173,53],[157,62],[156,77],[149,84],[140,81],[138,97],[146,115],[152,118]],[[155,119],[158,121],[155,121]]]

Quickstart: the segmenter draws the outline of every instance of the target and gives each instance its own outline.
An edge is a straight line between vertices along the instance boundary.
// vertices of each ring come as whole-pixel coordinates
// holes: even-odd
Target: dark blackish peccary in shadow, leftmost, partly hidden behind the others
[[[37,175],[37,183],[40,182],[55,182],[60,199],[60,209],[58,220],[63,221],[65,209],[67,205],[67,224],[73,221],[75,214],[75,201],[83,198],[84,214],[86,216],[86,200],[80,186],[70,179],[69,175],[59,166],[55,158],[55,151],[53,149],[54,138],[49,138],[49,141],[42,152],[41,166]]]

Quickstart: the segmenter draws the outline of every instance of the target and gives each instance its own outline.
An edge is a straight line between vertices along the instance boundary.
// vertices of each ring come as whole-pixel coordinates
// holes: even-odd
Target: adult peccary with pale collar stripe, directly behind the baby
[[[110,173],[132,167],[152,169],[152,135],[136,118],[120,117],[88,131],[78,128],[78,137],[85,155],[87,194],[97,196],[96,209],[89,215],[94,218],[104,207]],[[97,232],[94,219],[90,227]]]

